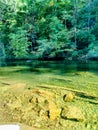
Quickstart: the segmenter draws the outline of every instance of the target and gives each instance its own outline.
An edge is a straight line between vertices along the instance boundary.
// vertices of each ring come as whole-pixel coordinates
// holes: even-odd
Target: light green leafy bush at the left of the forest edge
[[[26,37],[27,31],[17,28],[15,33],[10,33],[10,49],[16,58],[23,58],[28,55],[28,46],[30,42]]]

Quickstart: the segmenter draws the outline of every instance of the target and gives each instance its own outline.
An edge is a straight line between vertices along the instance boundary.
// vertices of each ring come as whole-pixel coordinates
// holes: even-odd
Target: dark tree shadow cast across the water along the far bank
[[[13,72],[20,73],[54,73],[57,75],[72,74],[79,71],[89,71],[98,74],[98,61],[78,62],[78,61],[0,61],[1,67],[19,67]],[[23,66],[23,68],[22,68]]]

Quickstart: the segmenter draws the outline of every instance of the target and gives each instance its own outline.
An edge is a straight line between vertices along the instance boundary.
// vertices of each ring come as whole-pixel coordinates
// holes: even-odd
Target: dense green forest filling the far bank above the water
[[[0,0],[0,58],[98,57],[98,0]]]

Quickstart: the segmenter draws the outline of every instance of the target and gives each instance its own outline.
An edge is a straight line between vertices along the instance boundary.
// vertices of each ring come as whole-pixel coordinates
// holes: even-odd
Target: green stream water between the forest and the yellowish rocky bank
[[[46,84],[98,94],[98,62],[18,61],[2,62],[0,84]]]

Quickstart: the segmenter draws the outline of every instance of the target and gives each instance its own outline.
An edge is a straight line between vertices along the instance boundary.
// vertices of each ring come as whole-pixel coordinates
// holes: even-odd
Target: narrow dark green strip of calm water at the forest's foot
[[[0,61],[1,67],[27,66],[29,68],[48,68],[57,69],[58,71],[66,70],[75,71],[96,71],[98,73],[98,61]]]

